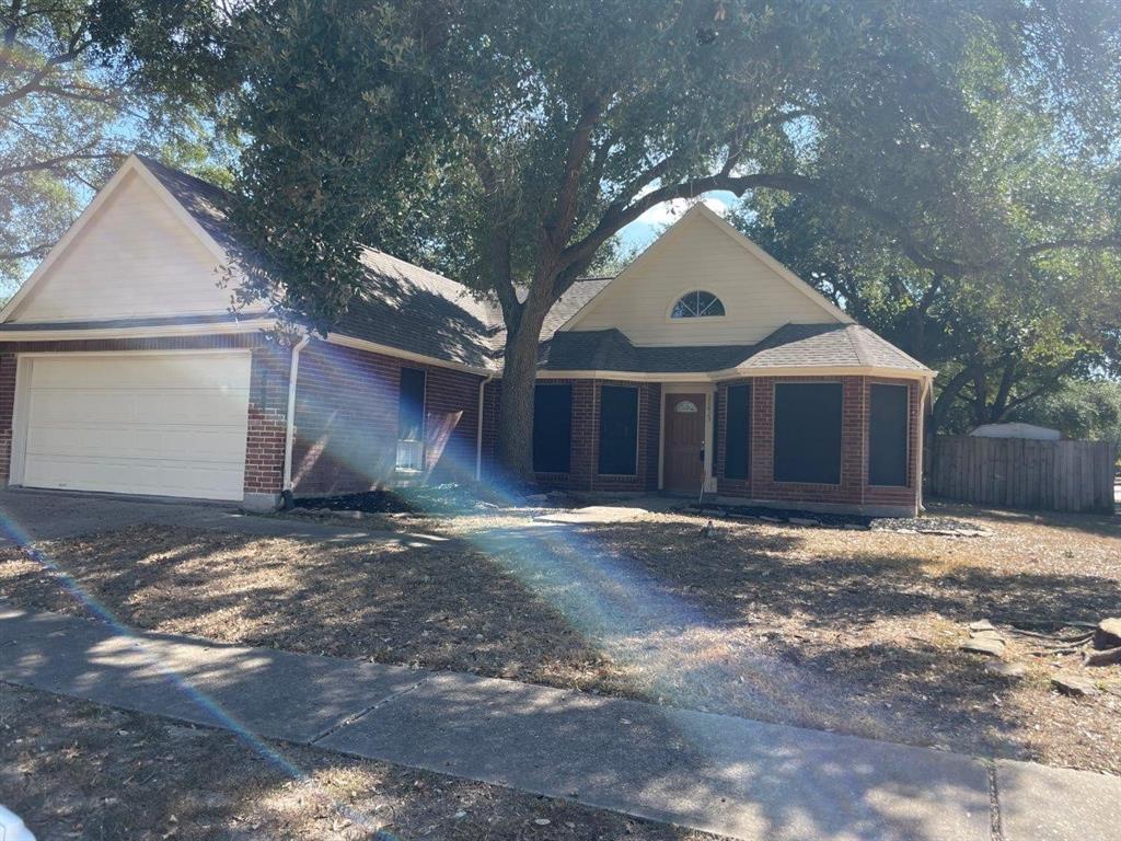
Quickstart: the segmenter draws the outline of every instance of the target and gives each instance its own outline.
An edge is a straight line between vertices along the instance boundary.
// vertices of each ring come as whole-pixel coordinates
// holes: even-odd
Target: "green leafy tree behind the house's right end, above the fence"
[[[974,59],[965,70],[975,131],[948,197],[954,212],[924,219],[902,207],[898,224],[943,241],[967,237],[991,255],[984,265],[918,266],[889,230],[805,196],[760,192],[732,218],[858,320],[939,371],[932,432],[999,422],[1076,377],[1121,366],[1118,252],[1031,246],[1060,232],[1105,240],[1119,230],[1118,150],[1071,145],[1056,119],[1002,85],[990,64]],[[974,95],[976,87],[1000,96]]]

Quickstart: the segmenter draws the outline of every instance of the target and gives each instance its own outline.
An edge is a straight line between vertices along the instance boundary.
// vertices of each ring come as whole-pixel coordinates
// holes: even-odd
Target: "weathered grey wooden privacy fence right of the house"
[[[1113,512],[1117,451],[1103,441],[1025,441],[938,435],[933,496],[1050,511]]]

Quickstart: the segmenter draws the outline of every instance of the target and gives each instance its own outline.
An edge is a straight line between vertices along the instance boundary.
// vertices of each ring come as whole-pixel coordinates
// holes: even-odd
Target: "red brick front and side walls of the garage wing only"
[[[0,343],[0,477],[11,462],[17,354],[249,349],[247,496],[278,496],[284,482],[290,351],[261,334]],[[300,354],[294,445],[295,491],[369,490],[396,474],[400,369],[427,373],[425,470],[417,481],[474,478],[481,377],[313,341]]]

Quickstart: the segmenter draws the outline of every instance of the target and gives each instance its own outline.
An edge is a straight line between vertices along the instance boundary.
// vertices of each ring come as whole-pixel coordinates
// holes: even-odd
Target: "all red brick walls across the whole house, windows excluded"
[[[98,351],[204,349],[251,351],[247,495],[278,495],[284,477],[285,427],[290,354],[261,334],[176,336],[138,340],[76,340],[0,343],[0,477],[7,478],[12,447],[17,354]],[[396,470],[397,413],[402,368],[426,372],[425,463],[417,474]],[[296,403],[293,480],[297,495],[369,490],[402,481],[471,481],[475,471],[479,375],[411,362],[396,357],[313,341],[300,354]],[[541,473],[538,481],[573,491],[638,492],[658,489],[661,460],[661,394],[657,382],[550,380],[573,387],[573,442],[568,473]],[[842,385],[842,465],[837,484],[777,482],[773,479],[775,385]],[[751,385],[749,477],[724,477],[728,386]],[[909,389],[907,486],[868,484],[869,404],[873,383]],[[639,392],[638,459],[634,475],[599,474],[600,395],[604,385]],[[717,445],[714,464],[721,498],[780,505],[819,505],[847,509],[915,510],[920,500],[920,383],[874,377],[758,377],[717,386]],[[490,382],[483,403],[483,461],[493,464],[501,381]]]

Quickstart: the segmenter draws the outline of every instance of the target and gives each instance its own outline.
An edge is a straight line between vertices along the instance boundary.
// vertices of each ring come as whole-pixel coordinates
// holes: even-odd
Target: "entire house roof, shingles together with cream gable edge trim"
[[[10,318],[20,298],[77,234],[129,172],[139,173],[157,187],[182,221],[220,259],[253,259],[253,252],[238,238],[225,206],[229,194],[201,178],[179,172],[148,157],[130,156],[103,187],[78,221],[72,225],[50,255],[0,311],[0,322]],[[667,234],[656,240],[631,265],[614,277],[583,278],[574,283],[547,314],[540,336],[540,367],[546,371],[619,371],[641,373],[729,375],[797,368],[881,368],[929,376],[929,369],[859,326],[816,290],[795,277],[762,249],[743,237],[703,204],[692,207],[674,228],[691,215],[704,218],[758,259],[768,264],[804,295],[819,303],[837,321],[822,324],[787,324],[757,344],[704,346],[637,346],[619,330],[572,330],[582,312],[612,283],[632,270],[651,251],[661,247]],[[429,271],[378,249],[363,247],[360,260],[365,269],[365,288],[339,320],[333,336],[396,349],[436,361],[495,371],[506,343],[504,326],[497,304],[478,292],[443,275]],[[81,330],[145,329],[191,325],[238,327],[235,314],[183,316],[182,318],[83,320],[40,324],[0,323],[0,333],[21,331],[49,333]],[[247,325],[257,326],[258,322]]]

